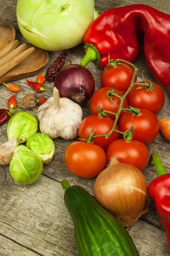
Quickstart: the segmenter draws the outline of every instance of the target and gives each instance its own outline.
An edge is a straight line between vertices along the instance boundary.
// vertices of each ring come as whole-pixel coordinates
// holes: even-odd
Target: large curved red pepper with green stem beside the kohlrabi
[[[139,38],[140,37],[140,38]],[[170,92],[170,15],[136,4],[110,9],[94,20],[84,36],[86,55],[103,69],[110,59],[133,62],[144,38],[144,55],[155,79]]]

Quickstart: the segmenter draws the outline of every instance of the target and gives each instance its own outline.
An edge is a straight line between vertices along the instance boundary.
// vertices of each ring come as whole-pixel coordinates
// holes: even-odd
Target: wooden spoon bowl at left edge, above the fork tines
[[[13,26],[0,23],[0,50],[14,41],[15,35],[16,33]]]

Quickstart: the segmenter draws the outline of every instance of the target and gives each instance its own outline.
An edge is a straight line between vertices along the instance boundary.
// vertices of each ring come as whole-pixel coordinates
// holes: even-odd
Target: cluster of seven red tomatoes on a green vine
[[[133,73],[134,69],[129,64],[108,66],[103,70],[102,88],[94,93],[90,102],[92,115],[86,117],[79,127],[79,138],[82,140],[69,145],[65,152],[66,166],[74,175],[95,177],[111,157],[141,171],[146,167],[149,160],[146,145],[152,143],[159,132],[156,114],[163,108],[165,100],[157,84],[146,80],[136,83],[135,78],[122,104],[118,125],[108,136],[120,108],[120,97],[130,87]],[[131,127],[132,140],[125,136]]]

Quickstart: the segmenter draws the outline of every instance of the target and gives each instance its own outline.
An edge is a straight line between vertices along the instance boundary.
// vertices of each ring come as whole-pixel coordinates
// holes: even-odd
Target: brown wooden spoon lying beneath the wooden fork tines
[[[27,44],[27,49],[30,47],[33,46],[31,44]],[[48,53],[40,48],[34,48],[34,52],[32,52],[27,58],[0,77],[0,84],[34,75],[47,64]]]

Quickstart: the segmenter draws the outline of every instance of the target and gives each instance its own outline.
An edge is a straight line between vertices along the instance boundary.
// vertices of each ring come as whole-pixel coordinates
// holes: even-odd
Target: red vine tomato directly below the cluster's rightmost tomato
[[[148,145],[155,140],[159,133],[159,120],[154,113],[147,109],[139,109],[140,115],[124,112],[119,121],[119,131],[127,131],[133,125],[133,140],[139,140]],[[133,116],[133,119],[132,119]]]

